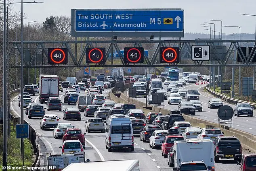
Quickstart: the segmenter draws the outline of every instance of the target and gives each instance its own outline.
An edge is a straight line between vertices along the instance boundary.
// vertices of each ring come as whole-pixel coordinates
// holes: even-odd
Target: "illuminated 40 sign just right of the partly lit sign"
[[[143,63],[144,48],[143,47],[124,47],[124,63]]]

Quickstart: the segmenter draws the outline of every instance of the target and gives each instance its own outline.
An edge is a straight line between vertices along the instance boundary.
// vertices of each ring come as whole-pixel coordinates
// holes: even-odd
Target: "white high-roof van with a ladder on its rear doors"
[[[106,149],[130,148],[134,151],[132,122],[128,115],[111,115],[106,122]]]

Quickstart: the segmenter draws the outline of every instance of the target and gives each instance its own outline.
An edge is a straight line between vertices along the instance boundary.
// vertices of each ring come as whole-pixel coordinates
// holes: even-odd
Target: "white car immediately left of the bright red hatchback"
[[[167,133],[168,133],[168,130],[154,131],[152,136],[149,138],[149,147],[152,147],[152,149],[154,149],[157,146],[158,147],[162,146],[162,142],[164,141],[164,138]]]

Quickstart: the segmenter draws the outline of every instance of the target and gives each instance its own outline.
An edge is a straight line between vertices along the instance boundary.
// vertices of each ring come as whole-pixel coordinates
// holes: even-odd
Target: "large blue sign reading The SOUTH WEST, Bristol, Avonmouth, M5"
[[[184,37],[182,9],[74,9],[73,37]]]

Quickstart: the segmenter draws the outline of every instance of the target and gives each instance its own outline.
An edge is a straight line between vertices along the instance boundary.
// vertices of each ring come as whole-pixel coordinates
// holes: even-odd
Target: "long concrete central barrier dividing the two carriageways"
[[[126,86],[128,88],[129,85]],[[110,97],[112,100],[114,100],[116,103],[133,103],[136,105],[136,108],[143,109],[145,113],[148,113],[150,111],[154,112],[161,112],[163,115],[168,115],[170,113],[170,110],[163,109],[160,107],[153,107],[152,110],[145,109],[145,103],[141,101],[137,101],[136,99],[129,98],[124,93],[121,93],[120,98],[116,97],[113,92],[115,92],[115,88],[112,89],[110,93]],[[147,105],[151,106],[151,105]],[[209,122],[203,119],[199,119],[196,117],[192,117],[190,115],[183,115],[185,121],[188,121],[191,123],[192,126],[199,126],[200,128],[218,128],[218,124]],[[236,130],[233,128],[230,128],[225,125],[220,125],[220,128],[225,136],[235,136],[237,137],[240,142],[242,143],[243,149],[248,149],[253,153],[256,153],[256,136],[249,134],[247,132],[243,132],[240,130]]]

